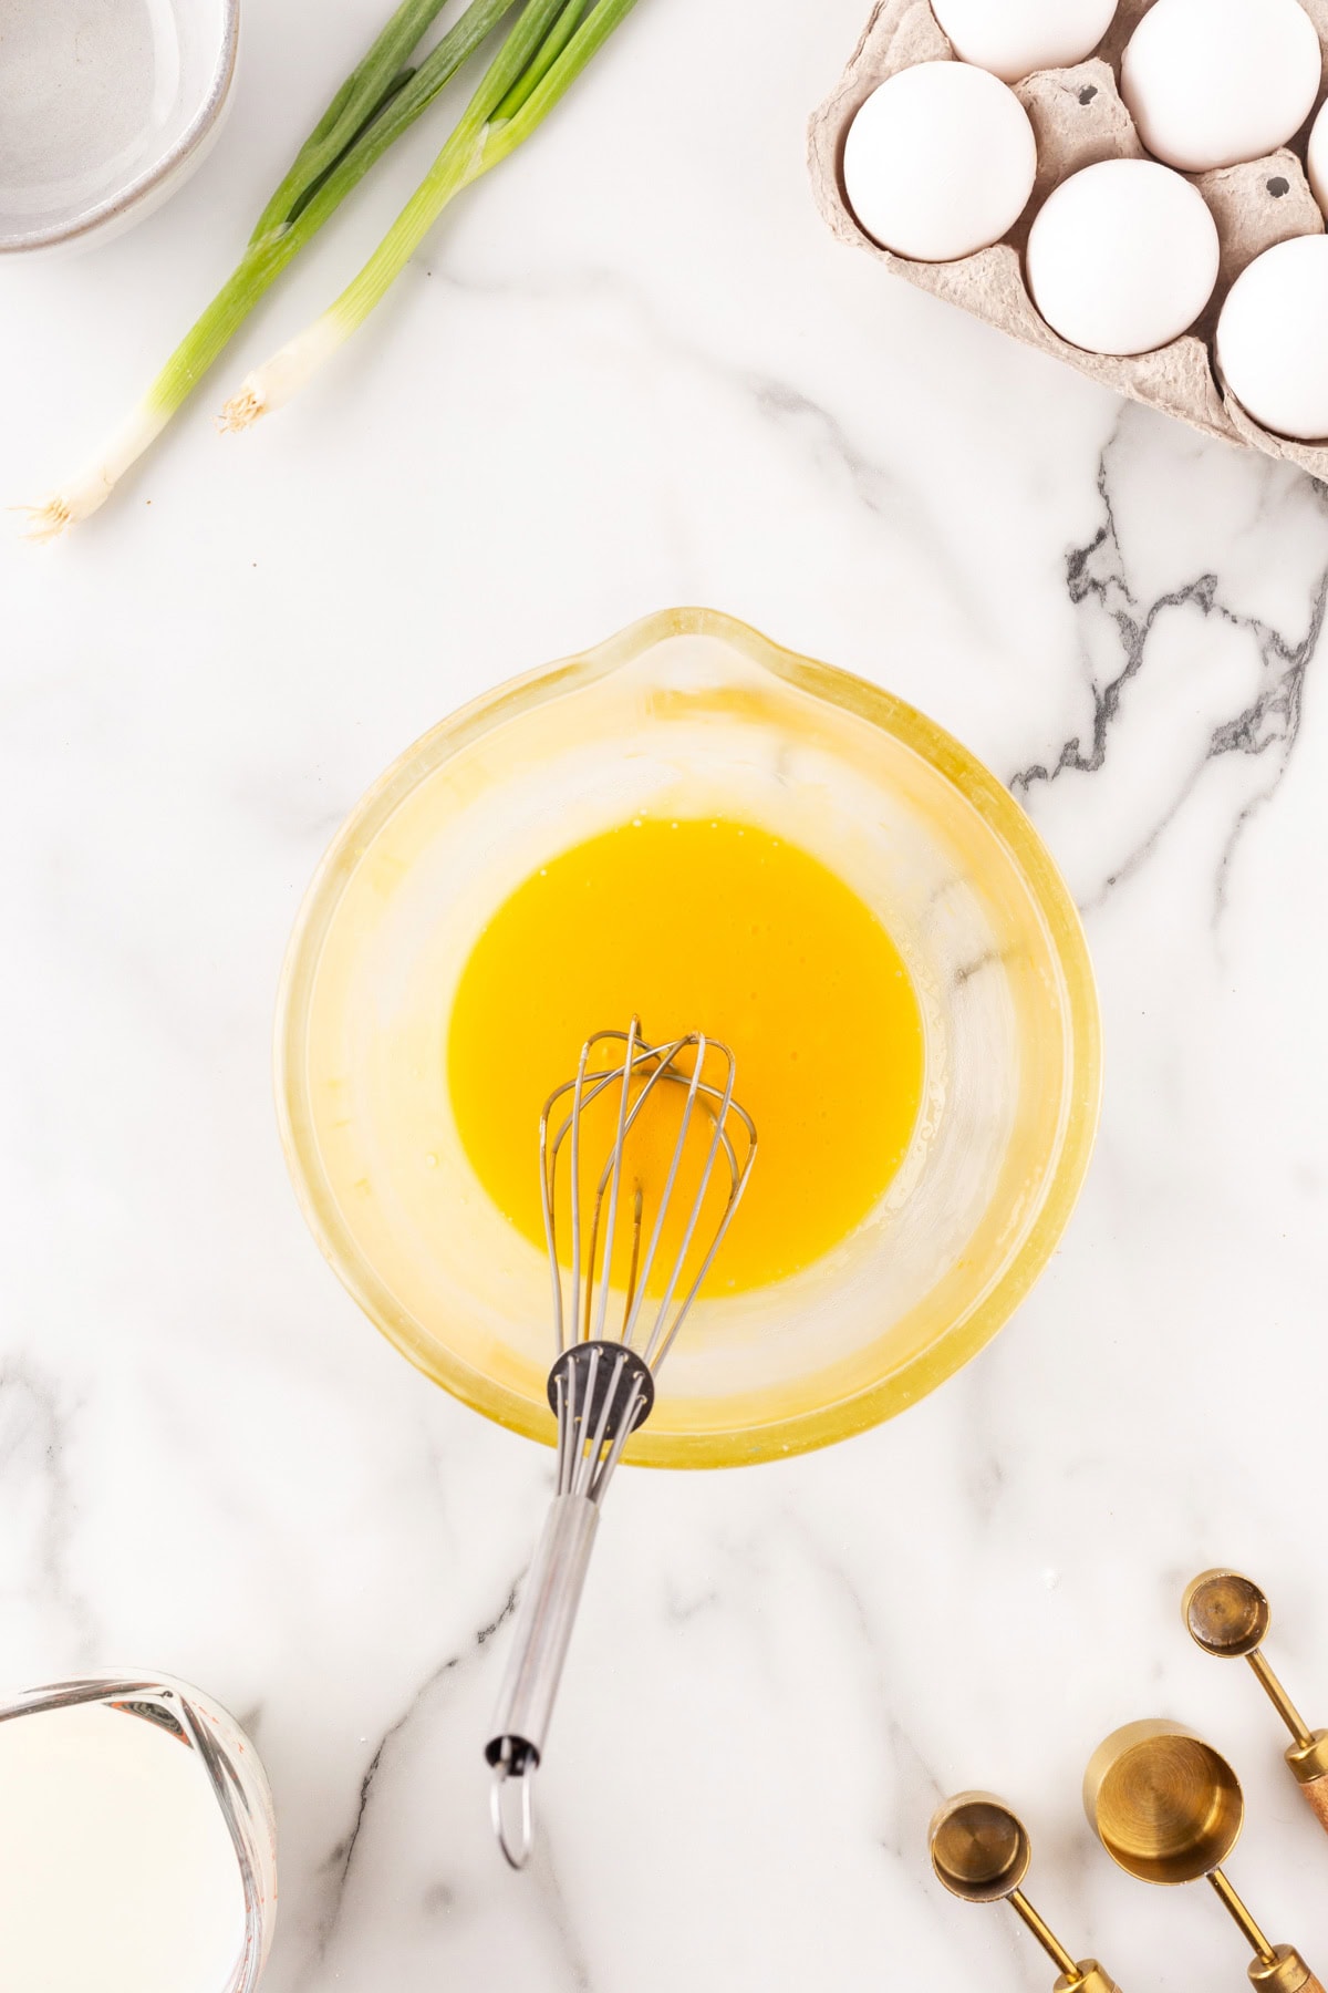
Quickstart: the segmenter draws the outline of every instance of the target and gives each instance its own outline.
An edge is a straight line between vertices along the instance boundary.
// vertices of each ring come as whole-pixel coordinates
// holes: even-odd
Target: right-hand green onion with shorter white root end
[[[456,130],[364,269],[334,305],[241,383],[223,428],[249,428],[291,401],[354,333],[462,187],[516,151],[553,110],[635,0],[526,0]]]

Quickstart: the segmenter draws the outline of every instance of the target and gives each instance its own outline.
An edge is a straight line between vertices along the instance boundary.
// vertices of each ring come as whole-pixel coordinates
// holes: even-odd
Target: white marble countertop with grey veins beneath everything
[[[382,0],[332,12],[249,0],[197,179],[0,271],[4,502],[211,293]],[[864,12],[641,0],[303,405],[209,423],[428,145],[82,536],[0,544],[0,1672],[159,1666],[253,1728],[271,1993],[1047,1985],[1013,1917],[930,1877],[962,1786],[1027,1816],[1075,1953],[1236,1985],[1207,1891],[1089,1840],[1085,1760],[1145,1714],[1234,1758],[1232,1877],[1328,1971],[1276,1720],[1177,1610],[1201,1566],[1250,1566],[1328,1710],[1328,504],[830,241],[802,134]],[[1105,1114],[1061,1252],[944,1391],[808,1459],[619,1479],[516,1877],[478,1740],[550,1459],[323,1266],[273,993],[398,749],[669,602],[890,686],[1013,785],[1085,915]]]

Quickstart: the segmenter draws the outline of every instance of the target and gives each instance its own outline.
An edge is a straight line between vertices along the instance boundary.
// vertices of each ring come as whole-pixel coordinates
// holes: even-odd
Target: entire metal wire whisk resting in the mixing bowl
[[[711,1270],[757,1154],[757,1130],[733,1098],[733,1076],[727,1044],[703,1032],[645,1044],[639,1018],[633,1018],[627,1030],[599,1030],[587,1038],[575,1078],[550,1094],[540,1116],[544,1230],[557,1339],[550,1371],[557,1487],[526,1580],[484,1750],[494,1774],[494,1834],[512,1867],[524,1867],[534,1846],[532,1780],[544,1760],[599,1507],[623,1447],[651,1415],[659,1365]],[[587,1170],[585,1114],[601,1094],[609,1096],[605,1106],[617,1108],[613,1140],[607,1160],[595,1168],[591,1158]],[[647,1212],[635,1166],[643,1128],[663,1096],[677,1102],[679,1126],[659,1202]],[[569,1178],[567,1202],[559,1200],[563,1172]],[[583,1182],[589,1214],[581,1208]],[[711,1182],[717,1184],[717,1198],[723,1196],[719,1210],[715,1200],[705,1210]],[[671,1208],[681,1214],[677,1244],[673,1236],[665,1242]],[[569,1212],[567,1266],[559,1238],[561,1210]],[[623,1262],[627,1272],[617,1291],[613,1274]],[[520,1812],[510,1804],[514,1784],[520,1788]],[[510,1814],[516,1818],[510,1820]]]

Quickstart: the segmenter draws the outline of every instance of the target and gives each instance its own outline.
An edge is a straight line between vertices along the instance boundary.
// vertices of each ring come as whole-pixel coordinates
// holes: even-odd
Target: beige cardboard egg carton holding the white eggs
[[[1135,359],[1083,353],[1051,331],[1027,293],[1023,247],[1047,193],[1079,167],[1095,165],[1099,159],[1149,157],[1121,100],[1119,78],[1125,44],[1153,4],[1155,0],[1121,0],[1107,38],[1089,62],[1069,70],[1041,70],[1013,86],[1037,136],[1037,181],[1009,235],[996,247],[980,249],[978,255],[962,257],[958,263],[912,263],[882,249],[854,219],[844,195],[844,138],[858,106],[878,84],[916,62],[954,60],[954,50],[932,14],[930,0],[878,0],[852,62],[810,122],[808,153],[816,201],[842,241],[868,249],[922,291],[962,305],[1029,347],[1055,353],[1057,359],[1069,361],[1079,373],[1119,395],[1179,415],[1211,436],[1290,458],[1328,478],[1328,442],[1290,442],[1260,428],[1224,393],[1213,357],[1218,311],[1246,263],[1290,235],[1324,233],[1324,215],[1304,173],[1304,143],[1324,102],[1324,90],[1292,145],[1248,165],[1189,175],[1217,221],[1220,273],[1203,319],[1181,339]],[[1318,28],[1328,76],[1328,0],[1300,0],[1300,4]]]

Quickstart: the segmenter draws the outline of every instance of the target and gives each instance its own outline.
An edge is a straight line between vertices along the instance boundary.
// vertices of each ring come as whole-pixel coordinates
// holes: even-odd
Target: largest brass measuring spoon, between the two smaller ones
[[[1125,1724],[1089,1760],[1083,1806],[1111,1859],[1139,1881],[1207,1879],[1254,1951],[1262,1993],[1324,1993],[1290,1945],[1270,1945],[1226,1881],[1222,1861],[1244,1824],[1236,1774],[1181,1724]]]

